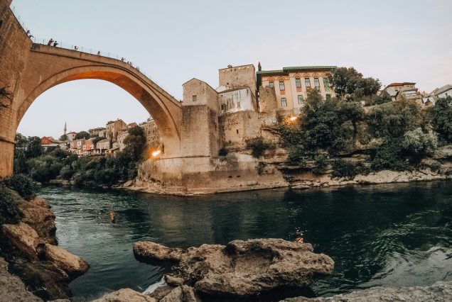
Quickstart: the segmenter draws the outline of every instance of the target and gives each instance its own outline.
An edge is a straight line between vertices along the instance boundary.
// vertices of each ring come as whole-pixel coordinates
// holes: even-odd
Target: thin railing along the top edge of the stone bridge
[[[33,41],[33,43],[42,44],[42,45],[48,45],[48,41],[50,40],[50,38],[36,38],[31,33],[31,30],[29,30],[29,28],[22,21],[20,14],[18,13],[18,11],[16,11],[16,8],[14,6],[12,6],[12,5],[10,7],[11,7],[11,11],[13,11],[13,13],[14,13],[14,16],[16,16],[17,21],[21,24],[23,30],[26,31],[26,33],[28,34],[28,37]],[[158,82],[154,81],[154,79],[151,79],[151,76],[149,74],[146,74],[146,72],[144,72],[144,70],[142,70],[139,66],[137,66],[137,65],[134,66],[134,63],[130,62],[129,60],[127,60],[126,57],[119,56],[119,55],[114,54],[112,52],[104,52],[104,51],[101,51],[101,50],[98,50],[98,49],[92,48],[92,47],[79,46],[79,45],[76,45],[74,43],[63,43],[63,42],[60,42],[60,41],[58,41],[57,43],[58,43],[58,45],[56,45],[55,47],[65,48],[65,49],[68,49],[68,50],[75,50],[75,51],[78,51],[78,52],[90,53],[92,55],[100,55],[102,57],[109,57],[111,59],[115,59],[115,60],[127,63],[131,67],[134,67],[138,72],[141,72],[141,74],[144,74],[147,78],[149,78],[151,80],[151,82],[154,82],[161,89],[161,91],[163,93],[168,94],[169,96],[171,96],[173,99],[175,99],[177,101],[176,97],[174,97],[172,94],[170,94],[168,92],[168,90],[164,89],[163,86],[161,84],[158,84]],[[75,47],[77,47],[77,49]]]

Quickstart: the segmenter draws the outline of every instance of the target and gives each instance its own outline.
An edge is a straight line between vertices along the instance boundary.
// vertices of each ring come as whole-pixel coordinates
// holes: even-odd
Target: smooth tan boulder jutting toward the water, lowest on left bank
[[[45,258],[53,262],[56,267],[62,269],[64,272],[70,276],[70,278],[75,278],[85,274],[90,266],[82,258],[75,256],[63,250],[61,247],[55,245],[45,244],[44,248]]]

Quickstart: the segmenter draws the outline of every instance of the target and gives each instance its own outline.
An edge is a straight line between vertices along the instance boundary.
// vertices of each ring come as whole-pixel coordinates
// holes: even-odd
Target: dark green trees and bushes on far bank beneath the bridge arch
[[[144,130],[139,126],[129,129],[124,150],[107,157],[77,157],[60,148],[45,152],[40,138],[26,138],[20,133],[16,142],[15,174],[24,174],[41,183],[64,179],[77,186],[112,186],[134,179],[146,147]]]

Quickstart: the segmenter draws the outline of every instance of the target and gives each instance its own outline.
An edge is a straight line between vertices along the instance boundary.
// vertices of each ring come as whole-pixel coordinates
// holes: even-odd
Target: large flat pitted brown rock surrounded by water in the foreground
[[[282,239],[235,240],[228,245],[171,249],[154,242],[134,243],[134,253],[148,261],[171,260],[169,274],[208,295],[252,296],[281,287],[306,287],[333,271],[334,262],[315,254],[308,243]]]

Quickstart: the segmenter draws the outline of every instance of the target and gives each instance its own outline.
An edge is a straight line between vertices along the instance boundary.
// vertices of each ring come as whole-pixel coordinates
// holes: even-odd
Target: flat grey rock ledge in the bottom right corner
[[[319,298],[287,298],[284,302],[424,302],[452,301],[452,281],[436,282],[432,286],[410,286],[410,287],[372,287],[364,291],[353,291],[351,293],[335,295],[332,297]]]

